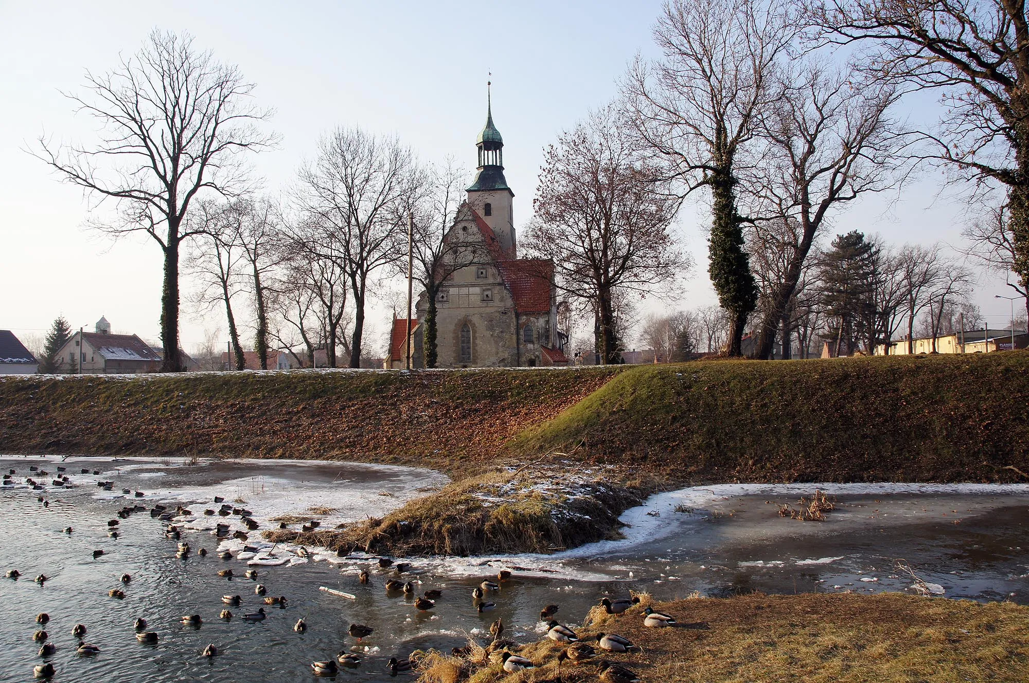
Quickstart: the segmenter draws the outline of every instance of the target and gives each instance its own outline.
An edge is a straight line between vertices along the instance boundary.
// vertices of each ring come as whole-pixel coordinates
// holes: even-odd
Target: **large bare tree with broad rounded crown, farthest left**
[[[179,358],[179,247],[194,232],[185,218],[201,193],[237,196],[247,188],[243,152],[265,149],[275,136],[256,123],[252,83],[239,69],[197,52],[192,38],[154,30],[135,58],[115,70],[86,73],[88,97],[69,96],[101,127],[93,146],[55,147],[40,138],[37,154],[67,182],[116,217],[96,218],[112,235],[143,231],[165,257],[161,299],[162,369],[185,369]]]

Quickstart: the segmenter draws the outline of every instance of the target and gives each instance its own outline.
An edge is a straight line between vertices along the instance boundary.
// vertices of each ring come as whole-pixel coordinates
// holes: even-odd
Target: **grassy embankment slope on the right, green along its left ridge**
[[[634,367],[510,450],[691,480],[1025,480],[1029,353]]]

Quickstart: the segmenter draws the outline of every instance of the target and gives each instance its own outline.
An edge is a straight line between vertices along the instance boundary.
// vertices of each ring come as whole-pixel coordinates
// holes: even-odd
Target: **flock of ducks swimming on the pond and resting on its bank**
[[[35,473],[35,476],[45,477],[49,476],[49,473],[40,470],[37,466],[31,466],[30,471]],[[65,487],[70,484],[70,477],[65,473],[67,469],[63,466],[57,467],[57,477],[52,479],[52,486]],[[81,470],[82,474],[99,475],[100,470],[90,470],[83,468]],[[13,483],[13,476],[16,474],[15,470],[10,469],[6,474],[3,475],[3,484],[10,486]],[[41,491],[44,489],[42,484],[35,480],[35,478],[30,475],[26,477],[25,482],[29,484],[35,491]],[[60,483],[59,483],[60,482]],[[98,481],[98,487],[102,487],[105,490],[113,490],[113,481]],[[129,489],[123,489],[122,494],[130,495],[133,492]],[[136,491],[133,494],[136,498],[142,498],[145,494]],[[39,497],[38,502],[43,506],[48,506],[49,501],[43,497]],[[220,508],[217,509],[206,509],[204,514],[207,516],[220,515],[222,517],[229,515],[237,515],[241,524],[244,525],[248,531],[256,530],[259,525],[252,518],[251,512],[246,509],[234,507],[232,504],[224,503],[224,499],[221,497],[214,497],[215,504],[221,504]],[[135,504],[131,506],[125,506],[118,510],[117,516],[121,519],[128,518],[135,512],[146,511],[147,508],[141,504]],[[149,508],[150,516],[158,518],[161,522],[167,524],[165,529],[165,536],[171,540],[177,541],[176,546],[176,556],[180,559],[185,559],[192,551],[188,542],[181,540],[182,530],[173,524],[173,519],[178,515],[192,515],[192,512],[184,507],[177,507],[174,512],[170,511],[166,506],[155,504]],[[118,519],[111,519],[107,523],[108,535],[117,538],[119,535],[120,523]],[[216,525],[214,533],[218,539],[222,539],[228,536],[228,525],[219,523]],[[67,527],[64,533],[71,534],[73,529]],[[233,534],[233,537],[238,540],[247,540],[246,533],[237,531]],[[247,549],[249,546],[244,546]],[[255,549],[255,548],[254,548]],[[303,553],[303,548],[301,548]],[[104,550],[97,549],[93,551],[94,559],[99,558],[104,554]],[[207,554],[207,550],[200,548],[197,554],[203,556]],[[305,553],[306,554],[306,553]],[[232,558],[232,553],[228,551],[219,552],[219,556],[223,560]],[[378,558],[375,559],[375,563],[378,565],[379,569],[387,570],[393,572],[393,575],[384,582],[384,588],[387,595],[404,595],[409,598],[414,598],[414,607],[420,612],[427,612],[432,610],[436,601],[442,598],[442,590],[438,588],[426,589],[422,595],[418,595],[415,582],[411,580],[403,580],[403,575],[412,571],[412,566],[410,563],[400,562],[397,563],[389,558]],[[358,582],[364,586],[368,586],[372,583],[372,578],[369,570],[372,566],[361,569],[358,572]],[[234,573],[232,569],[221,569],[217,571],[219,577],[233,578]],[[8,579],[17,580],[22,576],[17,569],[9,569],[6,571],[6,577]],[[256,581],[258,578],[258,573],[256,569],[248,569],[244,573],[244,577]],[[475,586],[471,591],[472,606],[480,614],[485,614],[491,612],[497,608],[497,604],[490,600],[494,595],[498,595],[501,589],[501,584],[509,581],[511,578],[511,572],[507,570],[500,571],[495,577],[490,577],[484,579],[477,586]],[[120,576],[120,583],[122,586],[128,586],[132,581],[133,577],[126,573]],[[40,585],[43,585],[48,580],[43,574],[39,574],[35,577],[35,581]],[[288,600],[285,596],[268,596],[268,588],[261,583],[255,583],[254,594],[263,599],[263,604],[269,607],[278,607],[280,609],[285,609]],[[112,588],[108,591],[108,596],[114,599],[125,599],[126,592],[123,588]],[[239,595],[224,595],[221,598],[221,602],[226,606],[226,609],[222,609],[218,615],[219,619],[232,620],[234,614],[227,609],[227,607],[239,607],[242,605],[243,599]],[[601,606],[608,614],[622,614],[626,612],[630,607],[639,603],[638,598],[627,598],[618,600],[609,600],[604,598],[601,601]],[[623,667],[622,664],[613,663],[606,659],[596,659],[598,652],[597,648],[612,652],[612,653],[627,653],[627,652],[638,652],[640,648],[635,646],[629,639],[619,636],[617,634],[607,634],[599,633],[590,638],[596,641],[596,647],[582,642],[580,638],[575,634],[575,632],[561,624],[559,621],[554,619],[554,616],[558,612],[559,607],[557,605],[546,605],[542,610],[540,610],[539,618],[540,621],[546,623],[546,637],[553,641],[566,645],[557,655],[557,664],[560,667],[564,661],[570,661],[572,663],[582,663],[588,661],[596,661],[597,663],[597,677],[601,681],[606,683],[635,683],[639,681],[639,678],[629,669]],[[265,612],[264,607],[258,608],[256,611],[245,612],[240,615],[244,621],[256,622],[262,621],[268,618],[269,614]],[[50,617],[46,613],[41,613],[37,615],[36,622],[38,628],[32,635],[35,642],[40,643],[39,656],[42,658],[49,658],[57,650],[54,643],[48,640],[48,634],[43,630],[43,626],[50,621]],[[203,623],[203,618],[200,614],[186,614],[181,617],[181,623],[187,626],[200,627]],[[647,607],[643,611],[643,623],[649,627],[663,627],[663,626],[675,626],[676,620],[674,617],[668,614],[653,611]],[[135,630],[136,639],[143,644],[155,645],[159,641],[159,636],[155,631],[148,630],[148,624],[146,619],[143,617],[136,618],[133,627]],[[297,633],[305,633],[308,628],[308,624],[303,618],[298,619],[293,625],[293,630]],[[514,648],[516,643],[509,640],[504,640],[502,638],[505,626],[501,619],[497,619],[490,626],[490,635],[492,636],[492,641],[487,646],[486,651],[491,656],[494,653],[499,654],[499,661],[502,663],[503,670],[508,673],[517,673],[520,671],[537,668],[542,666],[544,662],[532,661],[528,657],[524,657],[514,654],[510,650]],[[93,656],[100,652],[100,648],[97,645],[85,642],[86,626],[82,623],[76,623],[72,627],[72,636],[77,639],[76,653],[80,656]],[[351,623],[348,633],[351,637],[357,640],[357,644],[360,645],[364,638],[367,638],[374,633],[374,628],[361,623]],[[471,655],[471,647],[463,648],[453,648],[451,654],[457,657],[468,657]],[[204,650],[201,652],[201,656],[204,657],[214,657],[218,654],[218,648],[213,644],[208,644]],[[339,654],[332,659],[318,660],[311,664],[311,671],[315,676],[333,677],[340,672],[340,668],[346,669],[356,669],[361,666],[363,657],[360,654],[348,650],[341,650]],[[416,662],[412,660],[411,657],[391,657],[386,663],[386,671],[391,676],[397,676],[402,673],[413,673],[416,670]],[[48,679],[51,678],[55,673],[55,667],[50,661],[44,661],[43,663],[36,664],[34,667],[34,674],[37,678]]]

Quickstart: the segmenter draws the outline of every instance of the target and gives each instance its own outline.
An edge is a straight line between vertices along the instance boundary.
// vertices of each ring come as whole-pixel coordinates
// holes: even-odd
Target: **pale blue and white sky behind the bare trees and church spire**
[[[171,8],[174,7],[174,10]],[[26,3],[0,0],[0,329],[41,335],[64,315],[92,329],[103,315],[115,332],[159,336],[162,258],[149,238],[113,241],[86,226],[94,203],[30,153],[38,138],[88,142],[93,121],[64,93],[83,93],[86,71],[114,68],[154,28],[188,32],[194,46],[236,64],[256,83],[256,104],[275,109],[268,130],[278,148],[253,156],[271,192],[285,190],[336,125],[397,135],[418,156],[465,166],[493,81],[494,121],[504,137],[516,225],[531,217],[545,145],[617,92],[638,52],[654,57],[651,28],[661,3],[635,2],[138,2]],[[913,120],[931,107],[909,106]],[[863,200],[833,229],[877,232],[894,243],[961,243],[965,207],[926,172],[891,196]],[[677,294],[648,299],[647,312],[715,302],[707,278],[706,218],[688,205],[675,230],[695,266]],[[399,288],[400,285],[397,285]],[[188,290],[189,283],[185,283]],[[988,322],[1006,324],[1003,281],[975,293]],[[185,297],[183,297],[185,300]],[[391,312],[369,311],[365,344],[384,346]],[[187,351],[224,322],[183,305]],[[219,336],[220,335],[220,336]]]

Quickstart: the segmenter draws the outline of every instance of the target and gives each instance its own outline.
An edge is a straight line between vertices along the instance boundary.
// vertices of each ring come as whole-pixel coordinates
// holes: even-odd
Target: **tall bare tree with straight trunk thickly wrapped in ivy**
[[[637,133],[683,194],[711,190],[708,274],[731,315],[728,353],[741,354],[757,286],[737,202],[761,112],[779,97],[774,78],[795,25],[782,0],[670,0],[654,38],[664,60],[637,60],[625,87]]]

